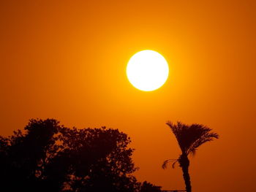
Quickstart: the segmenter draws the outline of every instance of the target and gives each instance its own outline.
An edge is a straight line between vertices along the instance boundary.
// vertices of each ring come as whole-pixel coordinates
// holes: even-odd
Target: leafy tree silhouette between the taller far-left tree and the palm
[[[75,191],[135,190],[138,184],[130,174],[136,168],[131,158],[133,150],[127,147],[130,142],[127,134],[105,127],[62,128],[61,142],[74,165],[69,173],[72,179],[66,183],[69,188]]]

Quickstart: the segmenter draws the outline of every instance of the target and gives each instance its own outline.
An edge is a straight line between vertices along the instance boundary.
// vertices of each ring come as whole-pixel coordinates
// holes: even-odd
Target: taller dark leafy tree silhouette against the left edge
[[[25,133],[18,130],[11,137],[1,137],[1,188],[5,191],[35,191],[42,183],[39,176],[55,149],[59,128],[56,120],[30,120]],[[40,188],[37,188],[40,191]]]

